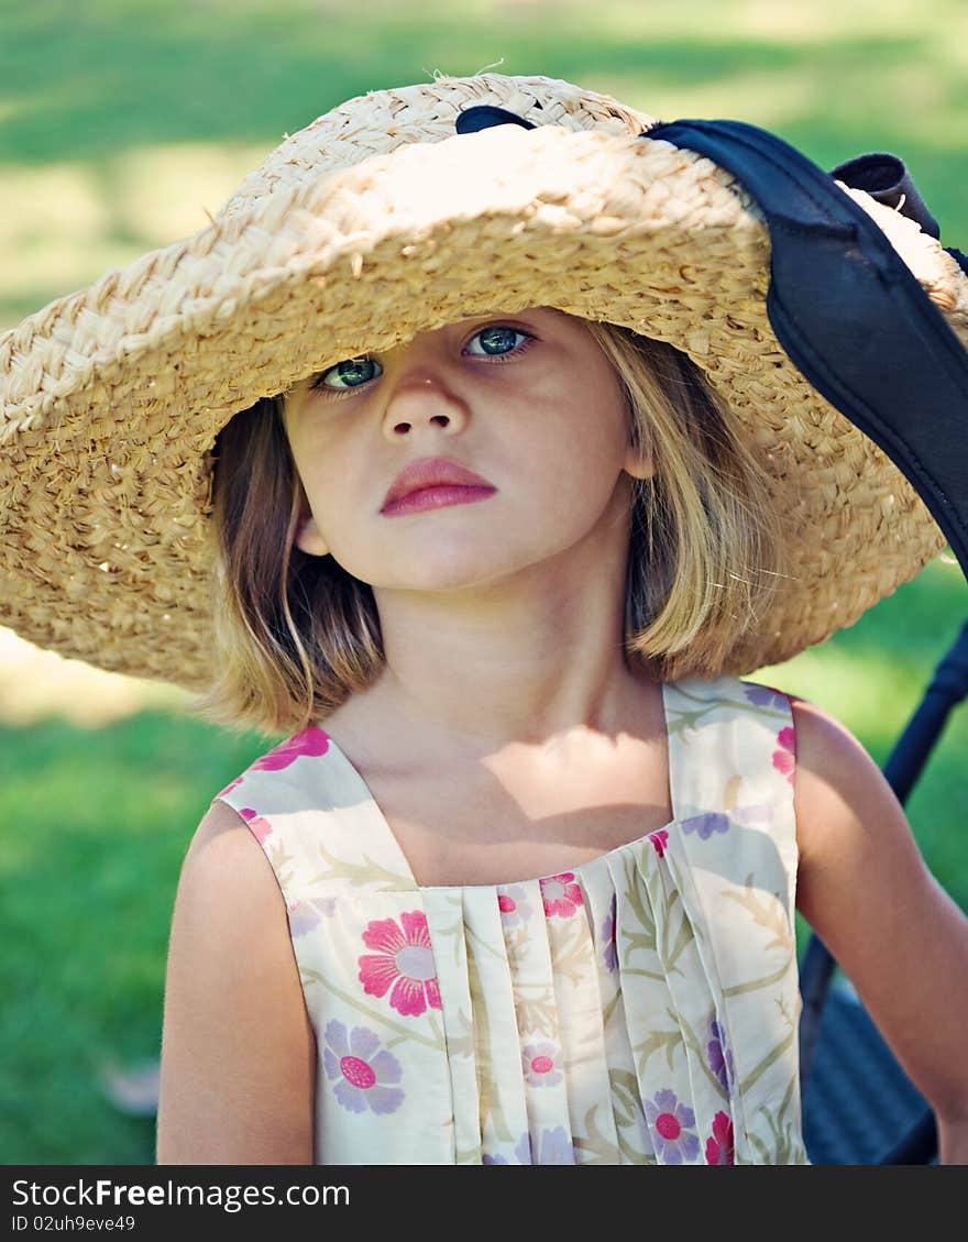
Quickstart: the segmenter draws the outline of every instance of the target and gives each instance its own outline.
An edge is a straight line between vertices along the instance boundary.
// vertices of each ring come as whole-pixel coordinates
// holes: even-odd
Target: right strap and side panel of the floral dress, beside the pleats
[[[702,929],[737,1160],[800,1163],[790,700],[733,677],[683,679],[669,697],[667,728],[680,817],[666,858]]]

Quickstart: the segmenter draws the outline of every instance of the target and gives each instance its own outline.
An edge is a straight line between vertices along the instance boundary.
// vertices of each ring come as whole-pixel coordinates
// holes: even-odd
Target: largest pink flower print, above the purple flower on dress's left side
[[[373,954],[359,959],[359,981],[368,996],[385,996],[393,984],[390,1005],[405,1017],[419,1017],[430,1005],[440,1009],[440,987],[434,966],[426,915],[420,910],[395,919],[373,919],[363,943]]]

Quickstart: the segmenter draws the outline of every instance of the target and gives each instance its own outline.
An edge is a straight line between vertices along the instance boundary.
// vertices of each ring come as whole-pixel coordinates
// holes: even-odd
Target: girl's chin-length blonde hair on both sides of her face
[[[589,322],[624,385],[632,479],[625,651],[662,681],[716,676],[783,571],[770,484],[700,369],[672,345]],[[237,414],[215,447],[215,679],[196,709],[265,734],[326,718],[384,663],[372,589],[295,544],[303,504],[282,397]]]

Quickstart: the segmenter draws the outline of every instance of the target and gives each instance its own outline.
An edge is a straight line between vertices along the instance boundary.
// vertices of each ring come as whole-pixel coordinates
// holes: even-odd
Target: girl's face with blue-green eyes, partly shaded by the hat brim
[[[582,542],[625,540],[628,474],[651,473],[584,320],[544,307],[302,380],[285,425],[308,501],[298,546],[373,587],[492,585]],[[441,458],[482,484],[388,504],[405,467]]]

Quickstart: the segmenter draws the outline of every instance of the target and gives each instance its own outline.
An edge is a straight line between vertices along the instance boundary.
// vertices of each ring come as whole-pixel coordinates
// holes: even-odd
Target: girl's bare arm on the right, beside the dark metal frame
[[[928,872],[903,809],[851,733],[793,699],[798,908],[968,1164],[968,918]]]

